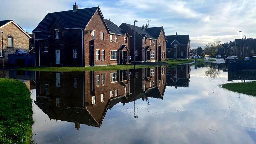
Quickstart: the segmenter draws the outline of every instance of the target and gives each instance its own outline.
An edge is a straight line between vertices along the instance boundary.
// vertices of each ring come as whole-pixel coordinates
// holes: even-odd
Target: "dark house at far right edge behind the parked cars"
[[[242,43],[241,43],[242,42]],[[238,57],[250,57],[256,55],[256,39],[246,37],[244,39],[235,39],[234,50],[237,50]]]

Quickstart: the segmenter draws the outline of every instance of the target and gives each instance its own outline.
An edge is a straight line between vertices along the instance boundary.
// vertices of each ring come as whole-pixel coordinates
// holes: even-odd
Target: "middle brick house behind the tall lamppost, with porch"
[[[122,23],[119,26],[133,36],[134,25]],[[135,26],[135,61],[136,62],[157,62],[166,59],[166,36],[163,26],[149,28]],[[130,38],[130,55],[134,58],[134,37]]]

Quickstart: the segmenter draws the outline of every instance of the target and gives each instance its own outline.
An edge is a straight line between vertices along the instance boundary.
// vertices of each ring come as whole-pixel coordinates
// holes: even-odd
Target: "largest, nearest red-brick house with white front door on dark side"
[[[129,55],[129,34],[99,7],[48,13],[33,33],[38,66],[117,65]]]

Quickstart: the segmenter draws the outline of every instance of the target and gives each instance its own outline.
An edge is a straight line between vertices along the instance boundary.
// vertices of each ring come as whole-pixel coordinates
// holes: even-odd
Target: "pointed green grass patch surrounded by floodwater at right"
[[[221,85],[227,90],[256,96],[256,81],[245,83],[226,83]]]

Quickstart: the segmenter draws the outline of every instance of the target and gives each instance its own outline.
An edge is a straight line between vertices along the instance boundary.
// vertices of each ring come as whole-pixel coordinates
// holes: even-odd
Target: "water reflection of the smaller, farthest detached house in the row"
[[[190,78],[190,65],[166,67],[167,86],[188,87]]]

